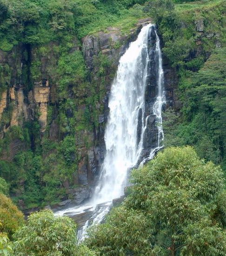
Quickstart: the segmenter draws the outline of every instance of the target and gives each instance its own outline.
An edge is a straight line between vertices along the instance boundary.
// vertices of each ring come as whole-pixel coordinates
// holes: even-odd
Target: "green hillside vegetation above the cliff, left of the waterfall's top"
[[[74,32],[81,38],[131,14],[134,22],[143,13],[130,12],[128,8],[145,1],[1,0],[0,49],[10,51],[20,41],[34,45],[64,40]]]

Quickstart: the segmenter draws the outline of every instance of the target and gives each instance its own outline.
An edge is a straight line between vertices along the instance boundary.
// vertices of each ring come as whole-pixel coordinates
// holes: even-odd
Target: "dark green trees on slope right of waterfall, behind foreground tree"
[[[182,116],[165,114],[166,145],[193,145],[200,157],[221,163],[226,155],[225,47],[216,49],[199,72],[181,75]],[[168,116],[167,116],[168,115]],[[179,124],[180,123],[180,124]]]

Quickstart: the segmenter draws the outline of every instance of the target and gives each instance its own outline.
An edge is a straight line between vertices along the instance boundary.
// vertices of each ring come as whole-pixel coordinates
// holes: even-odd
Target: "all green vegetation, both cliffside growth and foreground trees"
[[[41,59],[49,55],[58,102],[48,106],[44,134],[37,110],[33,121],[12,126],[1,136],[2,155],[15,139],[26,147],[12,161],[0,160],[0,255],[226,255],[225,14],[225,0],[0,0],[0,51],[16,57],[13,49],[26,48],[18,78],[24,94],[41,80]],[[181,108],[164,112],[166,149],[133,170],[135,185],[122,205],[104,224],[90,229],[85,243],[76,245],[76,224],[70,218],[42,210],[25,221],[18,208],[54,205],[68,199],[68,187],[78,186],[77,141],[84,130],[97,127],[103,109],[95,106],[115,70],[100,55],[95,60],[98,72],[90,74],[81,39],[107,27],[127,34],[145,17],[157,24],[162,52],[178,76]],[[72,50],[75,45],[78,51]],[[11,73],[7,63],[0,65],[0,95],[9,87]],[[12,109],[9,104],[3,112],[1,131]],[[53,119],[59,127],[55,141],[49,137]],[[92,143],[85,136],[84,147]]]

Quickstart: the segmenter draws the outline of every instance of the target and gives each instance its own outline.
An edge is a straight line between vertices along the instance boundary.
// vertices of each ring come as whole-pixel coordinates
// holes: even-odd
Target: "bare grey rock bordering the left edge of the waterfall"
[[[108,96],[118,62],[120,57],[125,53],[129,43],[136,40],[141,28],[150,22],[151,20],[149,19],[140,20],[137,26],[127,35],[122,34],[117,28],[108,28],[107,33],[100,32],[96,35],[88,35],[82,39],[84,56],[89,71],[93,74],[98,72],[99,67],[94,65],[94,60],[95,57],[100,54],[105,55],[111,61],[111,70],[113,70],[113,74],[108,74],[105,83],[105,95],[101,102],[104,110],[103,114],[98,117],[99,125],[94,131],[95,146],[88,151],[88,166],[90,171],[94,174],[94,178],[98,176],[98,170],[100,169],[105,154],[104,128],[108,117]],[[96,78],[93,77],[93,79]]]

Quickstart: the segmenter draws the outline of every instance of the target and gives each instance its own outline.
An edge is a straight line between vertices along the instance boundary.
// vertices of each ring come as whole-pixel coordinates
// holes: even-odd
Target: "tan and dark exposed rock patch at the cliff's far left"
[[[8,54],[0,51],[0,64],[3,76],[6,76],[1,81],[0,117],[10,107],[8,122],[3,125],[1,123],[0,126],[2,135],[2,131],[5,132],[12,126],[21,126],[24,121],[33,120],[35,111],[38,109],[41,129],[45,131],[50,88],[48,80],[34,81],[33,88],[31,88],[30,59],[32,55],[33,51],[23,45],[13,48]]]

